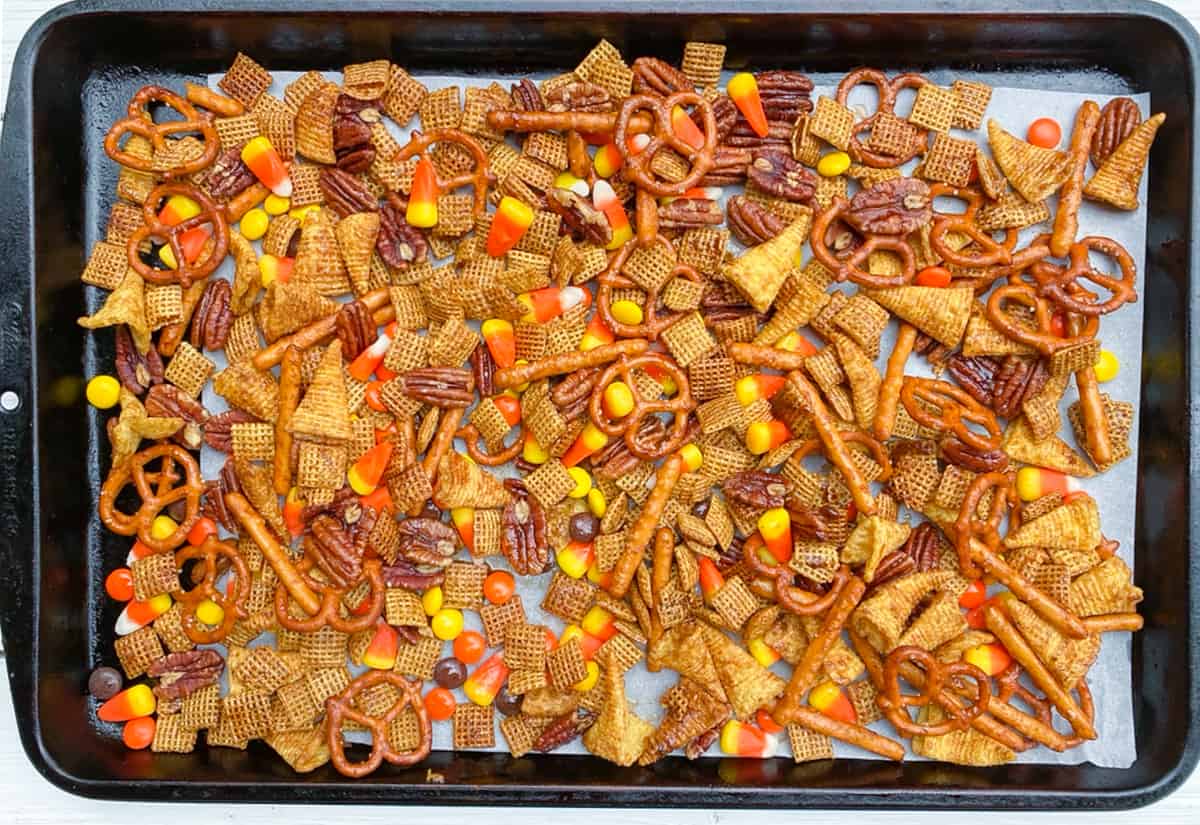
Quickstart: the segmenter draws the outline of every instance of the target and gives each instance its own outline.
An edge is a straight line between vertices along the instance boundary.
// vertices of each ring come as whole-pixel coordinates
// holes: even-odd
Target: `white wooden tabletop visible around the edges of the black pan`
[[[732,2],[733,0],[731,0]],[[1200,28],[1200,0],[1162,0],[1180,10],[1193,25]],[[8,72],[17,44],[26,29],[44,11],[55,6],[55,0],[0,0],[0,113],[7,98]],[[0,654],[2,655],[2,654]],[[406,825],[445,825],[464,819],[466,812],[449,808],[422,807],[402,811],[365,806],[212,806],[174,805],[169,813],[161,806],[96,802],[71,796],[43,779],[29,763],[17,737],[12,697],[0,686],[0,805],[4,815],[14,825],[41,825],[95,821],[125,825],[127,823],[155,821],[169,818],[172,825],[214,825],[244,819],[262,818],[270,821],[286,818],[290,825],[370,825],[371,823],[403,819]],[[564,808],[494,808],[472,811],[472,817],[486,817],[487,825],[550,825],[559,824],[581,812]],[[829,823],[833,815],[805,811],[794,813],[760,812],[707,812],[707,811],[630,811],[598,809],[582,814],[594,821],[620,821],[628,825],[804,825]],[[1120,814],[1118,814],[1120,815]],[[1129,814],[1126,814],[1129,815]],[[1200,821],[1200,771],[1170,797],[1135,814],[1142,823],[1163,825],[1195,825]],[[1055,825],[1097,820],[1087,813],[892,813],[850,814],[859,820],[923,825],[947,825],[954,820],[968,820],[972,825],[1028,825],[1030,820],[1052,821]]]

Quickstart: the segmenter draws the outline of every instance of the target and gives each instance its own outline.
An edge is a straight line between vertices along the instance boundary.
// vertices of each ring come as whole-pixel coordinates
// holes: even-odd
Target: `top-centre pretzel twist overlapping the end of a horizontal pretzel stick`
[[[703,119],[701,128],[704,131],[704,143],[701,146],[692,146],[690,143],[674,133],[671,125],[671,113],[674,107],[694,106]],[[636,155],[630,150],[625,139],[629,132],[630,119],[640,112],[650,112],[654,115],[654,131],[649,143]],[[625,179],[636,183],[653,195],[666,197],[683,194],[700,182],[700,179],[713,168],[713,158],[716,155],[716,118],[713,115],[712,104],[700,95],[690,91],[680,91],[671,95],[666,100],[652,95],[631,95],[620,104],[617,113],[617,128],[613,141],[620,150],[624,161],[622,171]],[[662,182],[650,169],[650,163],[659,150],[673,149],[691,164],[686,176],[677,182]]]

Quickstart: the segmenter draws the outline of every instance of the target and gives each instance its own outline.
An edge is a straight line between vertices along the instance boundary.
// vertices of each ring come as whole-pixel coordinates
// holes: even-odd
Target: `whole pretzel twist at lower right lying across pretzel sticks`
[[[900,692],[900,667],[913,664],[925,672],[925,684],[920,692],[907,694]],[[967,682],[974,685],[967,687]],[[956,701],[940,703],[937,697],[943,687],[956,692],[971,691],[966,695],[968,704]],[[988,710],[991,700],[991,687],[988,674],[968,662],[943,664],[928,650],[914,645],[896,648],[883,662],[883,689],[877,699],[880,710],[902,736],[943,736],[954,730],[966,729]],[[908,716],[908,707],[923,707],[930,703],[938,705],[946,718],[936,724],[920,724]]]

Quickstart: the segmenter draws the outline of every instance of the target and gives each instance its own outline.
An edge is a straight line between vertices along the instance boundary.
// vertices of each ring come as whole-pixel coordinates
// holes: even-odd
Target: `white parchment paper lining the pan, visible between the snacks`
[[[284,86],[300,74],[300,72],[275,72],[274,84],[269,91],[276,97],[282,98]],[[341,79],[340,73],[335,71],[324,71],[324,74],[334,80]],[[209,85],[212,89],[217,89],[216,83],[221,77],[221,74],[210,76],[208,78]],[[430,91],[434,91],[451,85],[458,85],[461,88],[466,88],[468,85],[487,85],[493,80],[508,88],[510,84],[520,79],[520,77],[527,76],[415,74],[414,77],[424,83]],[[542,79],[547,76],[534,74],[532,77],[535,79]],[[727,79],[728,73],[726,73],[722,78],[722,85]],[[826,83],[822,83],[822,78],[818,77],[815,77],[814,79],[816,80],[816,88],[812,92],[814,102],[820,95],[833,96],[836,78]],[[1007,131],[1016,134],[1018,137],[1024,136],[1028,125],[1037,118],[1054,118],[1062,126],[1064,145],[1069,140],[1075,110],[1079,108],[1079,104],[1088,97],[1103,106],[1112,96],[997,86],[992,91],[991,102],[988,107],[983,127],[978,132],[955,130],[955,134],[961,137],[970,136],[986,150],[988,118],[996,119]],[[1144,116],[1151,114],[1148,109],[1148,95],[1130,95],[1130,97],[1138,102]],[[863,107],[865,114],[874,110],[874,90],[869,86],[862,86],[854,91],[848,103],[852,108]],[[906,114],[911,107],[911,100],[912,92],[902,94],[896,104],[896,112],[901,115]],[[385,122],[389,131],[392,132],[401,144],[408,140],[412,128],[401,128],[390,120],[385,120]],[[415,118],[410,126],[414,125],[416,125]],[[911,162],[904,167],[905,171],[911,171],[912,165],[914,165],[914,163]],[[728,195],[737,194],[740,188],[742,187],[726,187],[722,201]],[[1079,212],[1079,236],[1104,235],[1111,237],[1129,251],[1139,272],[1141,272],[1145,266],[1146,191],[1147,180],[1144,176],[1139,192],[1139,201],[1141,205],[1135,212],[1123,212],[1087,200],[1084,201]],[[1051,203],[1050,206],[1052,216],[1055,204]],[[956,207],[947,206],[946,209],[949,211]],[[1027,245],[1031,237],[1049,230],[1049,222],[1022,230],[1018,247]],[[737,241],[732,241],[732,243],[734,247],[738,246]],[[262,252],[260,242],[256,241],[254,247],[259,251],[259,253]],[[808,259],[809,251],[808,247],[805,247],[804,260],[808,261]],[[444,263],[444,260],[436,263]],[[1100,260],[1096,260],[1094,263],[1103,266],[1103,261]],[[227,260],[217,271],[215,277],[232,278],[232,275],[233,264],[232,260]],[[842,285],[842,289],[847,293],[853,293],[856,288],[852,284],[848,284]],[[1121,363],[1121,372],[1112,381],[1109,381],[1100,387],[1102,392],[1109,393],[1116,401],[1130,401],[1134,403],[1133,433],[1138,432],[1138,420],[1140,416],[1139,380],[1141,374],[1142,306],[1144,305],[1140,302],[1127,305],[1120,311],[1104,317],[1099,333],[1103,347],[1111,350]],[[478,323],[472,321],[472,324],[478,327]],[[881,355],[876,361],[876,366],[878,367],[881,374],[884,369],[887,356],[890,353],[892,344],[895,339],[895,330],[896,324],[893,321],[889,324],[883,335],[880,348]],[[820,339],[811,333],[808,335],[820,345]],[[206,355],[217,363],[218,369],[226,366],[223,351],[208,353]],[[919,356],[913,356],[908,360],[906,373],[931,375],[924,359]],[[1070,444],[1074,444],[1074,439],[1069,432],[1070,428],[1067,424],[1066,411],[1067,408],[1076,401],[1076,398],[1078,395],[1074,389],[1074,383],[1072,383],[1061,404],[1063,430],[1060,433],[1060,435]],[[227,409],[224,401],[212,391],[211,383],[205,386],[202,401],[212,412]],[[462,448],[461,442],[456,442],[456,445],[458,448]],[[1136,496],[1134,493],[1138,484],[1138,444],[1136,441],[1133,441],[1129,446],[1132,453],[1127,459],[1116,464],[1103,475],[1081,480],[1081,483],[1082,488],[1091,494],[1099,505],[1100,524],[1104,535],[1121,543],[1117,554],[1132,568],[1134,562],[1133,536],[1136,506]],[[205,446],[202,451],[202,469],[204,471],[204,476],[208,478],[215,477],[220,471],[224,458],[224,454]],[[517,474],[511,468],[500,468],[498,475],[515,476]],[[901,517],[904,517],[904,514],[905,513],[901,513]],[[910,516],[913,514],[910,513]],[[920,520],[920,517],[916,516],[914,520]],[[503,556],[491,556],[487,561],[493,567],[508,567],[508,562]],[[552,574],[552,572],[547,572],[538,577],[516,577],[516,582],[517,594],[521,595],[528,621],[532,624],[546,625],[557,633],[563,630],[564,622],[557,616],[544,613],[539,607],[541,597],[545,594],[546,585],[548,584]],[[463,615],[468,628],[481,630],[478,613],[464,612]],[[272,634],[266,633],[256,639],[251,646],[272,644]],[[1096,728],[1098,731],[1096,741],[1086,742],[1066,753],[1055,753],[1049,748],[1037,747],[1018,754],[1016,761],[1031,764],[1080,764],[1086,761],[1102,767],[1128,767],[1133,764],[1136,758],[1136,746],[1133,728],[1130,650],[1129,633],[1105,633],[1103,637],[1100,654],[1096,663],[1092,666],[1092,669],[1088,672],[1087,681],[1091,687],[1096,706]],[[451,655],[449,644],[445,645],[444,652],[448,656]],[[791,667],[785,662],[779,662],[772,669],[785,680],[791,672]],[[352,667],[353,673],[359,673],[361,670],[362,668]],[[658,698],[667,687],[674,684],[676,679],[677,674],[671,670],[649,673],[646,669],[644,660],[629,670],[625,675],[625,686],[629,700],[634,706],[635,712],[637,712],[637,715],[642,718],[656,724],[661,717],[662,710],[659,705]],[[467,701],[467,698],[462,693],[461,688],[455,691],[455,693],[460,701]],[[496,747],[492,749],[508,752],[504,737],[499,731],[499,718],[500,716],[497,713]],[[1063,725],[1064,723],[1058,719],[1060,729],[1066,730]],[[895,735],[892,725],[886,721],[876,722],[871,727],[884,735]],[[350,741],[366,741],[366,735],[352,733],[347,734],[347,739]],[[450,724],[443,723],[433,725],[433,749],[452,749]],[[576,740],[575,742],[559,748],[556,753],[583,754],[587,753],[587,751],[582,743]],[[708,754],[721,755],[715,745],[709,748]],[[839,758],[881,758],[854,746],[838,741],[834,742],[834,754]],[[786,735],[779,736],[778,755],[790,757]],[[911,752],[907,758],[922,759],[920,757],[913,755]]]

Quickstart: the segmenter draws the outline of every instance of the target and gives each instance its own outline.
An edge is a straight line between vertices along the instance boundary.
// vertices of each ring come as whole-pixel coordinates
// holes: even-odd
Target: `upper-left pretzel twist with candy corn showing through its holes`
[[[158,219],[158,203],[170,195],[182,195],[194,200],[200,211],[190,218],[185,218],[176,224],[166,224]],[[224,212],[212,203],[204,192],[184,182],[160,183],[142,204],[144,223],[133,230],[126,243],[126,252],[132,266],[138,275],[152,284],[178,283],[185,289],[194,281],[203,281],[224,260],[229,249],[229,224],[226,222]],[[184,255],[184,245],[180,236],[198,227],[212,228],[212,248],[199,260],[188,263]],[[175,269],[156,270],[142,260],[142,243],[149,239],[166,240],[170,245],[170,251],[175,255]]]

